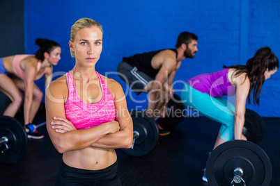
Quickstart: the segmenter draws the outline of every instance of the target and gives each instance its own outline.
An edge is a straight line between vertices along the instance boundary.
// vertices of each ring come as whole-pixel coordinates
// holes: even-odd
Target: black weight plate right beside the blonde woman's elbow
[[[159,139],[157,124],[145,112],[133,110],[130,115],[132,116],[133,130],[139,133],[139,137],[135,139],[133,149],[121,150],[134,157],[147,155],[155,149]]]

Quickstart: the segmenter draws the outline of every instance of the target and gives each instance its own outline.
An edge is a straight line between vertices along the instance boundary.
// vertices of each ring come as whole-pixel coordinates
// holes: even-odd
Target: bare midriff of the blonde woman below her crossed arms
[[[114,149],[87,147],[79,151],[63,153],[63,162],[70,167],[87,170],[100,170],[109,167],[117,160]]]

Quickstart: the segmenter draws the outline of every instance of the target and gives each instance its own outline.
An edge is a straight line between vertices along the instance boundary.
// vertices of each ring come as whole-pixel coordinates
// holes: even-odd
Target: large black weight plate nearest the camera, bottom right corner
[[[270,185],[272,165],[263,149],[253,142],[234,140],[217,146],[206,165],[210,185],[231,185],[235,168],[243,170],[246,185]]]

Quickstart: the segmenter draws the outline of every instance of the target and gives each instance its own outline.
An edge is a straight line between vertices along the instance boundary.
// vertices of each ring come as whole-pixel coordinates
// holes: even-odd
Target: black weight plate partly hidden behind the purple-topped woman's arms
[[[243,130],[243,134],[247,137],[248,141],[258,145],[263,142],[263,138],[265,137],[265,122],[257,112],[246,109],[244,128],[246,129]]]

